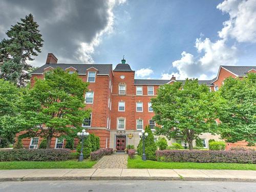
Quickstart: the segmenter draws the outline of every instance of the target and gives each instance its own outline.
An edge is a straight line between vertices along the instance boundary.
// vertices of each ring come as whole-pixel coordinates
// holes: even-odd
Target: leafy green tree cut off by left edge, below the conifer
[[[2,140],[12,143],[19,132],[17,103],[20,90],[11,82],[0,79],[0,145]]]

